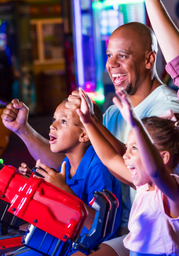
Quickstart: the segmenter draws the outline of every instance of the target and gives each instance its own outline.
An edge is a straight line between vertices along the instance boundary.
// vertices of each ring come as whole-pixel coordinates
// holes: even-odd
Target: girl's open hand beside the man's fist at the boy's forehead
[[[76,112],[78,113],[78,116],[80,116],[80,121],[83,124],[86,124],[92,120],[90,103],[87,95],[81,87],[79,87],[79,94],[81,97],[81,109],[78,108]]]

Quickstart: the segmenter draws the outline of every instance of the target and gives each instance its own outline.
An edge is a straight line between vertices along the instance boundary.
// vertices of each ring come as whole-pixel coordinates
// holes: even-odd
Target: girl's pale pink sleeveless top
[[[179,183],[179,176],[173,175]],[[165,214],[163,193],[155,187],[148,191],[148,184],[137,187],[130,212],[124,246],[136,253],[179,255],[179,217]]]

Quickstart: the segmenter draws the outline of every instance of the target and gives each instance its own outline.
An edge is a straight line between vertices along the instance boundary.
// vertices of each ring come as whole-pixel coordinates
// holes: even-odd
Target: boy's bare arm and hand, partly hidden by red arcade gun
[[[66,184],[66,162],[64,162],[61,166],[61,172],[55,172],[54,170],[52,170],[51,168],[49,168],[48,166],[46,166],[45,164],[41,163],[40,160],[37,161],[36,166],[43,168],[46,172],[44,172],[41,169],[36,169],[36,172],[38,172],[39,174],[41,174],[44,178],[44,180],[46,182],[49,182],[50,184],[64,190],[65,192],[74,195],[76,197],[78,197],[73,190]],[[34,177],[40,178],[36,175],[34,175]],[[42,179],[42,178],[40,178]],[[85,204],[85,203],[84,203]],[[85,204],[85,207],[87,208],[88,211],[88,216],[87,216],[87,220],[84,224],[84,227],[86,227],[88,230],[90,230],[92,223],[94,221],[94,217],[95,217],[95,210],[92,209],[90,206],[88,206],[87,204]]]

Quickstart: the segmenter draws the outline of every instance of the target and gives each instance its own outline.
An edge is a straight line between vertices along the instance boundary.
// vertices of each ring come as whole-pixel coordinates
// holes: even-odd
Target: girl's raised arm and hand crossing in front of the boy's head
[[[83,89],[79,88],[79,90],[81,96],[81,110],[77,109],[76,111],[87,131],[96,154],[102,163],[107,166],[110,171],[112,171],[112,174],[116,173],[118,175],[118,179],[120,181],[129,186],[135,187],[130,178],[130,171],[127,169],[123,158],[115,151],[113,145],[110,144],[110,142],[106,139],[106,137],[104,137],[99,128],[93,122],[88,98]]]

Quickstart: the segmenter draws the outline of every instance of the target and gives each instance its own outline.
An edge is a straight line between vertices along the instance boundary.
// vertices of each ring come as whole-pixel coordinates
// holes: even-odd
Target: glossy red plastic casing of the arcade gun
[[[0,170],[0,190],[11,203],[8,212],[62,241],[76,239],[87,218],[81,199],[43,179],[27,178],[12,166]]]

